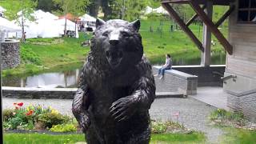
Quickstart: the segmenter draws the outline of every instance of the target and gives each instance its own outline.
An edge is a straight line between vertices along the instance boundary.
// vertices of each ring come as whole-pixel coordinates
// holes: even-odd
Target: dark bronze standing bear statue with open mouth
[[[72,104],[88,144],[150,142],[155,83],[139,28],[139,20],[96,21]]]

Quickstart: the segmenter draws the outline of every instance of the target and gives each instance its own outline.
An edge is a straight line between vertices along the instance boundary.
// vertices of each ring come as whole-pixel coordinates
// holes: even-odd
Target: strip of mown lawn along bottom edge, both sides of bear
[[[4,134],[5,144],[45,144],[83,142],[83,134]],[[192,134],[152,134],[150,143],[203,143],[205,136],[201,133]]]

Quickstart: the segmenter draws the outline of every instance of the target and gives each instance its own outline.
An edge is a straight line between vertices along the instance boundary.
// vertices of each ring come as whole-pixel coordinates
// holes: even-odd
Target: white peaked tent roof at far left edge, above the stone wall
[[[0,30],[6,31],[6,32],[16,32],[21,31],[22,29],[15,25],[13,22],[10,22],[6,18],[0,17]]]

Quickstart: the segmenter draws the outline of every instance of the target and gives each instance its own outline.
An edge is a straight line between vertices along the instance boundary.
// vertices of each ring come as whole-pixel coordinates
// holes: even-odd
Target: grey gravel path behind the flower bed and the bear
[[[14,102],[24,102],[24,106],[28,106],[30,103],[52,106],[62,114],[72,115],[72,100],[3,98],[3,109],[12,108]],[[171,119],[175,122],[177,117],[174,114],[179,113],[178,122],[183,123],[186,128],[205,132],[210,143],[219,143],[218,137],[223,134],[223,131],[208,126],[207,121],[207,117],[213,110],[216,110],[216,108],[194,98],[157,98],[151,106],[150,116],[155,120],[166,121]]]

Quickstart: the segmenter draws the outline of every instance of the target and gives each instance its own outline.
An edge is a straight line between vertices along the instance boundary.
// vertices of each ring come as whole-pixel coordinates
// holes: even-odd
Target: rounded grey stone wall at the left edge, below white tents
[[[16,67],[20,64],[19,42],[1,42],[2,69]]]

